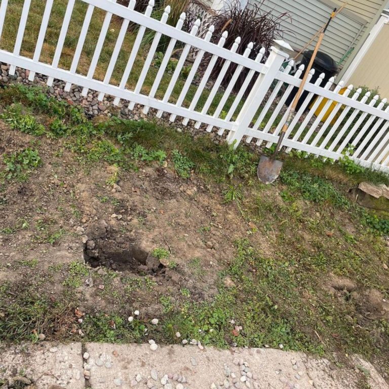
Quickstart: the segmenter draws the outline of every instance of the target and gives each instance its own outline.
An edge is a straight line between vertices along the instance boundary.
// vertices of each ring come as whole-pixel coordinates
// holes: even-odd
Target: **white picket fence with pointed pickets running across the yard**
[[[138,103],[144,106],[144,113],[148,112],[149,107],[157,109],[157,116],[159,117],[161,117],[163,112],[169,112],[171,114],[171,122],[174,122],[177,120],[177,116],[180,116],[184,125],[187,125],[188,121],[192,120],[196,122],[195,127],[197,128],[199,128],[201,124],[206,124],[208,126],[207,131],[212,131],[213,128],[217,128],[219,134],[226,131],[227,141],[230,143],[235,142],[236,146],[242,139],[246,142],[256,142],[258,145],[262,144],[262,142],[266,142],[267,147],[270,147],[277,142],[282,125],[287,118],[288,110],[283,113],[281,121],[280,114],[283,112],[282,109],[285,107],[285,101],[292,92],[293,87],[299,86],[301,82],[299,76],[303,71],[303,67],[300,66],[298,71],[294,75],[291,75],[289,72],[292,63],[289,62],[286,67],[282,66],[288,59],[288,54],[286,53],[290,48],[288,44],[283,41],[276,41],[275,47],[271,49],[266,62],[261,63],[264,50],[260,51],[255,60],[248,58],[253,47],[252,44],[248,45],[243,55],[236,53],[237,48],[240,45],[239,37],[236,38],[234,45],[232,45],[229,50],[223,48],[227,31],[224,31],[218,44],[213,44],[210,42],[214,30],[213,26],[209,28],[204,38],[197,36],[200,20],[196,21],[190,32],[182,31],[185,14],[181,15],[175,27],[168,25],[167,21],[170,7],[165,9],[161,20],[153,19],[150,16],[154,6],[153,0],[149,1],[149,5],[144,14],[133,11],[135,6],[134,0],[130,1],[127,8],[115,4],[115,0],[77,0],[88,4],[88,8],[70,69],[64,69],[59,66],[59,60],[64,47],[75,1],[76,0],[68,0],[51,64],[41,62],[40,57],[53,7],[53,0],[46,0],[45,11],[42,16],[42,23],[33,58],[27,58],[26,56],[21,55],[21,46],[25,34],[27,18],[29,13],[33,12],[33,10],[30,10],[31,0],[24,1],[14,49],[12,52],[0,50],[0,62],[11,65],[10,74],[13,74],[16,66],[18,66],[30,70],[29,80],[31,81],[34,80],[35,72],[42,73],[48,76],[47,84],[49,86],[53,84],[54,79],[59,79],[66,82],[66,91],[70,90],[72,84],[79,85],[83,87],[83,96],[86,96],[89,90],[95,90],[99,92],[99,100],[102,100],[104,95],[111,95],[114,97],[114,104],[116,105],[118,105],[121,100],[127,100],[130,102],[130,109],[134,107],[135,103]],[[1,0],[0,3],[0,40],[2,38],[2,30],[7,10],[12,6],[12,0],[10,0],[10,5],[8,3],[9,0]],[[106,15],[91,59],[89,71],[85,75],[77,73],[76,69],[79,64],[95,8],[105,11]],[[111,53],[111,59],[104,80],[99,81],[93,77],[112,15],[120,16],[123,18],[123,22],[114,49]],[[121,75],[120,84],[112,85],[110,79],[125,36],[128,33],[130,22],[139,25],[137,36],[131,53],[129,54],[127,66]],[[138,77],[136,86],[133,90],[130,90],[126,88],[126,85],[131,71],[133,70],[136,56],[142,46],[146,28],[155,31],[156,33],[148,48],[148,53],[144,60],[143,68]],[[170,37],[170,43],[165,51],[162,63],[149,93],[147,95],[142,94],[142,86],[162,34]],[[178,59],[173,74],[168,75],[167,66],[169,59],[177,44],[180,44],[180,47],[182,47],[181,56]],[[185,83],[177,100],[173,103],[171,102],[173,88],[180,77],[189,51],[192,48],[196,49],[196,58],[186,76]],[[141,50],[143,50],[143,48]],[[197,86],[196,93],[194,94],[191,103],[189,106],[184,106],[185,96],[187,95],[189,87],[193,85],[192,81],[195,79],[199,66],[207,53],[211,54],[207,68],[202,74],[200,84]],[[224,60],[224,65],[209,91],[205,104],[197,109],[200,97],[206,89],[212,70],[219,58]],[[227,75],[231,63],[235,63],[238,66],[233,74],[228,74],[231,76],[228,86],[225,89],[220,89],[221,82]],[[232,102],[231,106],[229,106],[225,112],[223,109],[226,106],[227,99],[231,95],[232,89],[244,68],[249,70],[244,84],[236,96],[234,96],[234,102]],[[311,71],[310,77],[312,77],[312,74],[313,71]],[[161,80],[166,76],[170,77],[170,82],[165,90],[163,98],[159,99],[155,97],[155,95],[160,87]],[[253,85],[251,84],[252,80],[255,80]],[[339,83],[335,89],[331,91],[330,88],[333,82],[334,79],[330,79],[325,85],[321,85],[323,84],[323,75],[320,75],[314,84],[309,82],[306,84],[305,90],[308,92],[308,96],[298,110],[295,119],[290,124],[285,137],[284,144],[287,151],[297,149],[338,160],[342,157],[342,153],[346,152],[349,147],[353,147],[354,153],[351,158],[357,163],[363,166],[389,171],[389,108],[383,110],[386,100],[382,100],[379,105],[375,106],[378,96],[374,96],[371,102],[366,104],[369,93],[360,96],[361,91],[358,90],[351,97],[348,97],[353,87],[349,86],[343,94],[339,94],[343,83]],[[251,85],[252,87],[248,97],[244,98],[246,89]],[[280,91],[283,92],[281,93]],[[220,93],[222,94],[220,101],[214,112],[210,114],[209,111],[212,102],[217,94],[220,96]],[[314,95],[317,95],[318,98],[314,105],[310,109],[308,108],[308,112],[304,113],[304,110],[306,110],[309,101]],[[314,116],[314,113],[323,102],[323,99],[327,99],[327,102],[320,114],[316,117]],[[332,109],[324,123],[321,123],[323,115],[332,102],[335,102],[335,107]],[[335,123],[333,121],[335,121]]]

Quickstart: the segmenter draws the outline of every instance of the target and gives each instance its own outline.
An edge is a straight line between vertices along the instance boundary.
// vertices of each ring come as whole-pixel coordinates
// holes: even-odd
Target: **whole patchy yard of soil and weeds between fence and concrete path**
[[[292,155],[265,186],[209,134],[0,93],[1,340],[196,338],[389,373],[389,219],[348,194],[387,176]]]

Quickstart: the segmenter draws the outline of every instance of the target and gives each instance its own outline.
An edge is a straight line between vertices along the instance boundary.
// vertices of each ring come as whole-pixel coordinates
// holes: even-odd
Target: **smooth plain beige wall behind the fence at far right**
[[[389,98],[389,24],[384,24],[348,83],[379,88],[381,97]]]

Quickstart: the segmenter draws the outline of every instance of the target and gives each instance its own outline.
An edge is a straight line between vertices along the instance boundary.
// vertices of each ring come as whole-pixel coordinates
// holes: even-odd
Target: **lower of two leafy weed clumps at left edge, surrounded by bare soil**
[[[42,164],[38,151],[30,148],[4,154],[3,161],[6,164],[5,177],[20,181],[25,181],[28,174]]]

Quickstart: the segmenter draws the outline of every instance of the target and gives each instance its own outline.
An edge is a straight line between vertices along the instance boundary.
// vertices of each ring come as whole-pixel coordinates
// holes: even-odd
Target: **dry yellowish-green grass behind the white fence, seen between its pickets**
[[[11,52],[13,51],[23,3],[24,3],[23,0],[10,0],[7,9],[7,15],[5,19],[5,26],[3,30],[2,40],[0,43],[0,49],[11,51]],[[45,36],[45,43],[40,58],[40,61],[42,62],[51,63],[53,60],[56,44],[58,41],[58,36],[60,33],[60,27],[62,25],[62,20],[66,10],[66,5],[67,5],[66,0],[54,0],[53,9],[50,16],[47,33]],[[28,33],[24,34],[23,42],[21,46],[21,54],[23,56],[26,56],[27,58],[33,57],[44,8],[45,8],[44,2],[41,2],[40,0],[31,1],[30,13],[26,25],[26,31],[28,31]],[[61,68],[64,69],[70,68],[73,59],[73,53],[75,51],[75,47],[79,39],[86,10],[87,10],[86,3],[81,1],[75,2],[71,20],[70,20],[70,25],[66,34],[64,48],[62,50],[62,55],[59,62],[59,67]],[[96,7],[93,13],[90,27],[88,29],[88,33],[81,53],[79,65],[77,67],[77,72],[81,74],[86,75],[88,73],[88,69],[96,48],[96,43],[98,40],[98,36],[101,30],[104,17],[105,17],[105,13],[102,10],[100,10],[98,7]],[[121,19],[119,17],[113,16],[95,70],[94,79],[96,80],[102,81],[104,79],[105,72],[107,70],[108,63],[111,58],[111,54],[114,45],[116,43],[116,39],[118,37],[121,25],[122,25]],[[147,35],[147,31],[148,30],[146,30],[146,35]],[[112,85],[119,85],[119,83],[121,82],[122,75],[127,65],[127,61],[131,53],[131,49],[133,47],[137,32],[138,31],[135,27],[133,28],[130,27],[130,29],[128,30],[125,36],[122,48],[119,53],[118,60],[116,61],[114,71],[112,73],[112,77],[110,80],[110,83]],[[163,38],[164,37],[165,36],[163,35]],[[142,71],[143,63],[147,55],[148,47],[149,44],[144,43],[142,45],[142,49],[138,52],[138,55],[136,57],[133,69],[127,81],[127,88],[131,90],[134,90],[136,83],[139,79],[139,75],[140,72]],[[180,49],[181,48],[180,44],[177,44],[176,48]],[[160,56],[161,55],[159,53],[155,54],[153,60],[153,66],[150,66],[149,68],[141,93],[144,94],[149,93],[153,81],[155,80],[155,76],[157,75],[158,72],[158,66],[159,66],[158,64],[161,62],[159,59]],[[170,73],[172,73],[172,71]],[[182,90],[187,74],[188,74],[188,66],[185,66],[181,72],[178,82],[174,86],[172,97],[170,100],[171,102],[177,101],[177,98]],[[169,74],[163,77],[156,94],[158,98],[163,98],[165,91],[169,85],[170,78],[171,76]],[[189,106],[193,96],[195,95],[196,90],[197,88],[193,85],[189,88],[189,91],[187,92],[187,95],[184,100],[184,104],[183,104],[184,106]],[[203,92],[197,106],[198,110],[201,110],[201,108],[204,106],[208,95],[209,95],[209,91]],[[222,97],[221,93],[218,93],[216,95],[212,103],[212,106],[210,107],[211,114],[214,112],[215,108],[217,107],[217,104],[219,103],[221,97]],[[234,96],[231,95],[228,98],[228,101],[224,109],[228,110],[228,108],[231,106],[233,101],[234,101]]]

